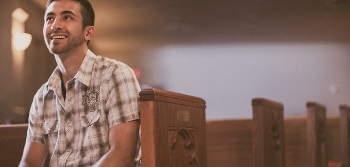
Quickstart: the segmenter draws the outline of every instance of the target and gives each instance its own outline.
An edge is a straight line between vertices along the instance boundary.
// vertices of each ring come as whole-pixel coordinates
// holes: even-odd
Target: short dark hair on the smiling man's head
[[[47,7],[56,0],[47,0],[46,9]],[[88,0],[73,0],[81,4],[80,14],[83,17],[83,29],[86,26],[95,24],[95,12],[92,8],[91,3]]]

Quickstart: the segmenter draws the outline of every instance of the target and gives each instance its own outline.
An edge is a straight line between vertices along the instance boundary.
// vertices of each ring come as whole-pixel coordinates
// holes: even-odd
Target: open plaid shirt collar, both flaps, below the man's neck
[[[95,63],[96,55],[88,49],[83,62],[81,63],[79,70],[77,74],[74,76],[73,79],[77,79],[79,82],[84,83],[86,86],[90,87],[90,82],[91,82],[91,73],[92,73],[92,68]],[[56,69],[53,71],[51,74],[49,80],[47,81],[47,87],[45,91],[46,92],[48,89],[54,89],[57,84],[59,83],[59,86],[61,81],[61,71],[59,70],[58,66]]]

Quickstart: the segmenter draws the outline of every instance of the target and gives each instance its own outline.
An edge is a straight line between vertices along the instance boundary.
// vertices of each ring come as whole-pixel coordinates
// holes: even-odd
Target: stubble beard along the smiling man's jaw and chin
[[[48,49],[52,54],[62,54],[76,48],[84,43],[84,34],[80,33],[78,36],[68,39],[67,43],[50,43],[48,44]]]

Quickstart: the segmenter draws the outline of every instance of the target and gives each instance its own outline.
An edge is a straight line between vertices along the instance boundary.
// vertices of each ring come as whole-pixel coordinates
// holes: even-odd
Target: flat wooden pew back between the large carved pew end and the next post
[[[252,167],[252,120],[206,121],[208,167]]]

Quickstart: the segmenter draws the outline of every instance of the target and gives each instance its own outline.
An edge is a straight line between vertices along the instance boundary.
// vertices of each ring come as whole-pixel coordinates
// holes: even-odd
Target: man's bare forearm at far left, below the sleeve
[[[26,142],[22,160],[18,167],[42,167],[46,159],[45,145],[42,143]]]

